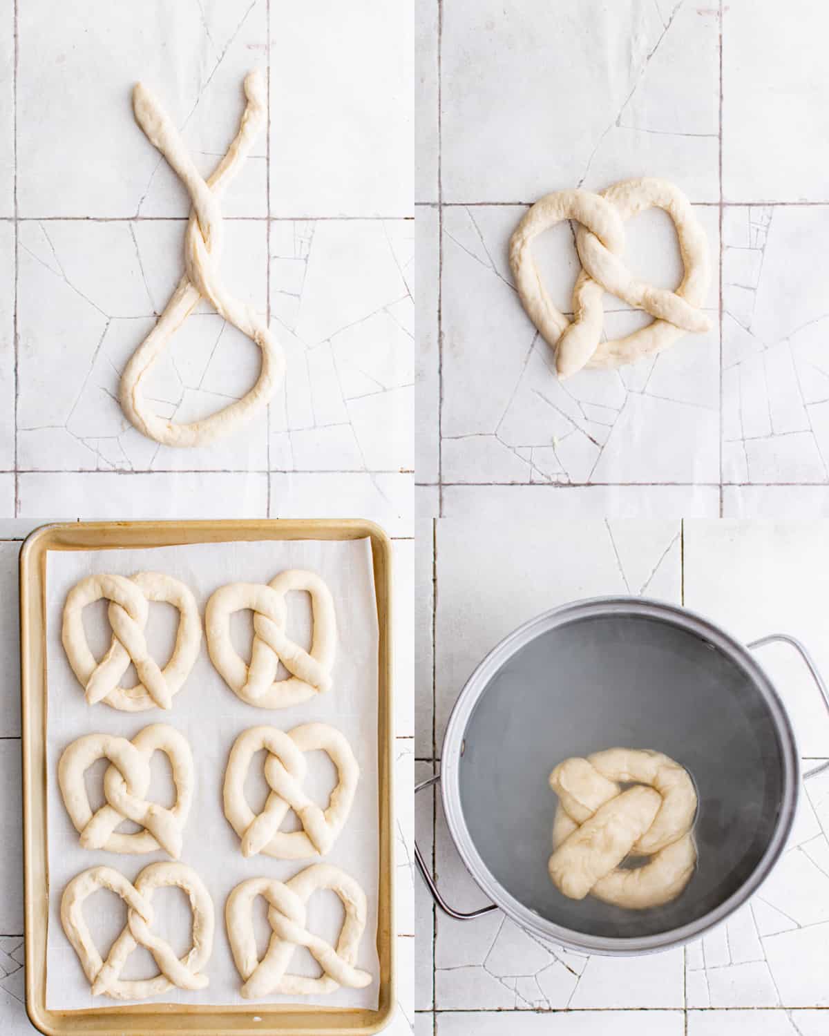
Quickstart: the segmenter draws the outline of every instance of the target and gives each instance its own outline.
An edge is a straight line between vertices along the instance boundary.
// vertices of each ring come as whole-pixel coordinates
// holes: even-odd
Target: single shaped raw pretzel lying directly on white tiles
[[[663,209],[674,221],[685,269],[676,291],[655,288],[625,266],[625,221],[644,209]],[[575,220],[582,269],[573,288],[573,321],[553,306],[533,259],[531,243],[542,231]],[[525,213],[510,240],[510,266],[524,309],[544,339],[556,346],[560,378],[582,367],[619,367],[661,352],[686,332],[705,332],[701,311],[711,280],[708,242],[688,199],[666,180],[646,177],[614,183],[600,194],[576,189],[545,195]],[[645,310],[654,321],[639,330],[602,341],[605,291]]]

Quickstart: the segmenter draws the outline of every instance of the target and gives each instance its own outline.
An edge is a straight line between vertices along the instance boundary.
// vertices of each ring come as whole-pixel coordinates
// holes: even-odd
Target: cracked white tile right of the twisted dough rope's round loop
[[[413,223],[279,220],[271,470],[412,470]]]

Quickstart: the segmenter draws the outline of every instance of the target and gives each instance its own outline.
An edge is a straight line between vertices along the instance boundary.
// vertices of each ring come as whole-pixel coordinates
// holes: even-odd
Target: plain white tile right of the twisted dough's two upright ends
[[[310,0],[295,13],[271,11],[273,213],[410,215],[411,7]]]

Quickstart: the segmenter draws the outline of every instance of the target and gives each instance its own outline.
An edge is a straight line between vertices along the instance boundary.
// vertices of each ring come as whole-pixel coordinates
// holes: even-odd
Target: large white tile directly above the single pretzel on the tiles
[[[715,12],[647,0],[448,4],[445,200],[528,201],[656,169],[716,200],[718,31]]]

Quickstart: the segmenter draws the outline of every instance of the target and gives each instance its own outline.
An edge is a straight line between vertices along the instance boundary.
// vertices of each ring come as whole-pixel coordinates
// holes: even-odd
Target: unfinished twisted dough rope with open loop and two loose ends
[[[193,200],[184,236],[184,274],[158,323],[136,349],[121,376],[120,400],[124,413],[140,432],[165,445],[206,445],[227,435],[267,404],[285,372],[285,357],[267,324],[251,307],[234,298],[219,277],[223,236],[219,199],[248,157],[266,121],[267,96],[264,76],[260,70],[256,69],[246,77],[245,94],[248,105],[239,132],[205,182],[161,103],[143,83],[139,83],[133,91],[136,120],[167,159]],[[202,297],[209,299],[221,317],[259,346],[262,366],[256,384],[241,399],[202,421],[176,424],[152,411],[144,397],[142,382]]]

